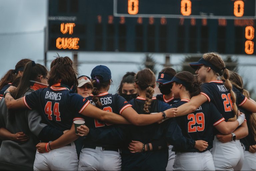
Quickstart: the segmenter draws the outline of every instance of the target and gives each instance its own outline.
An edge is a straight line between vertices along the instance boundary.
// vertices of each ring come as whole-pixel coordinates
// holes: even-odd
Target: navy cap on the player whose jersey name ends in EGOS
[[[104,82],[111,79],[111,71],[104,65],[98,65],[92,69],[91,78],[94,79],[96,75],[102,76]]]

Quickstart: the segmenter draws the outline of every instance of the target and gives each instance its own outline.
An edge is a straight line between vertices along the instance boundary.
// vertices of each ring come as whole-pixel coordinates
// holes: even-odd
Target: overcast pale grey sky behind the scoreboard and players
[[[14,69],[15,64],[22,58],[30,58],[36,63],[43,64],[44,58],[44,33],[46,26],[46,0],[0,0],[0,76],[7,70]],[[61,53],[62,56],[70,56],[71,53]],[[54,59],[56,53],[48,52],[48,60]],[[135,61],[141,63],[144,54],[125,54],[125,53],[79,53],[80,61],[90,61],[89,63],[80,62],[79,73],[90,75],[91,70],[99,64],[107,65],[112,71],[114,85],[110,89],[111,93],[116,91],[121,77],[127,71],[137,72],[140,64],[114,64],[104,61]],[[154,55],[159,63],[164,63],[164,55]],[[91,63],[91,61],[96,61]],[[182,56],[173,55],[171,62],[179,63]],[[240,57],[239,63],[256,63],[256,57]],[[47,63],[49,66],[50,62]],[[256,66],[256,65],[255,65]],[[256,67],[240,66],[239,74],[244,79],[249,80],[249,87],[256,92]],[[162,65],[156,66],[158,71]],[[174,66],[175,69],[178,66]]]

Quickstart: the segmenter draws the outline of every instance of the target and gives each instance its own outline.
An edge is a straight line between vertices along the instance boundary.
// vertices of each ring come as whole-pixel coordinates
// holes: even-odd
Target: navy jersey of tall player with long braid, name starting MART
[[[223,115],[226,121],[234,117],[232,111],[233,102],[230,95],[230,91],[224,86],[222,81],[211,81],[201,85],[201,94],[205,95],[208,101],[212,102],[219,112]],[[245,103],[247,98],[241,94],[236,88],[232,88],[236,94],[236,104],[241,106]]]

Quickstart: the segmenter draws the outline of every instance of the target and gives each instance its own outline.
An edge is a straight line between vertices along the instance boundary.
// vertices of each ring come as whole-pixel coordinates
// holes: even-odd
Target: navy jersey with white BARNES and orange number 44
[[[38,110],[45,124],[61,131],[70,129],[73,120],[83,120],[83,115],[79,113],[90,103],[62,84],[39,89],[23,99],[29,109]]]

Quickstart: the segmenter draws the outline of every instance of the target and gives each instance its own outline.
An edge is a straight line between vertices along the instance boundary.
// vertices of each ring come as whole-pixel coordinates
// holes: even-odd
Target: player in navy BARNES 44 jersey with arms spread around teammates
[[[34,170],[78,169],[78,159],[73,143],[78,135],[75,135],[74,125],[72,125],[73,120],[83,119],[82,115],[78,113],[113,123],[128,123],[123,117],[102,111],[91,105],[82,96],[71,93],[69,87],[75,82],[77,83],[77,79],[72,67],[72,60],[68,57],[57,57],[51,63],[48,88],[37,90],[18,100],[13,100],[10,93],[5,92],[8,108],[34,108],[40,112],[43,121],[48,125],[62,131],[71,128],[58,140],[37,145],[38,151],[41,151],[42,148],[45,151],[55,150],[44,154],[37,152]],[[66,141],[62,141],[63,139]]]

